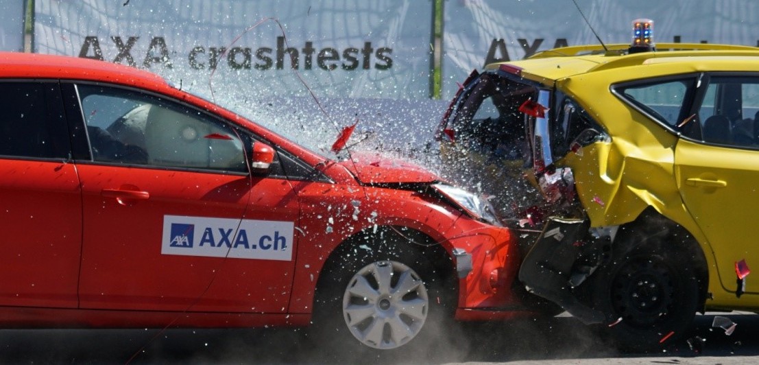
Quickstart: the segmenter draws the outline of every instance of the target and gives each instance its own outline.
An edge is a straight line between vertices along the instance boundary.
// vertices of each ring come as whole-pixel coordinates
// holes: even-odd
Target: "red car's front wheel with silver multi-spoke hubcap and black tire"
[[[330,257],[317,284],[310,331],[320,347],[408,348],[432,335],[431,327],[452,321],[455,290],[446,285],[446,272],[436,271],[427,257],[433,253],[410,245],[389,230]]]

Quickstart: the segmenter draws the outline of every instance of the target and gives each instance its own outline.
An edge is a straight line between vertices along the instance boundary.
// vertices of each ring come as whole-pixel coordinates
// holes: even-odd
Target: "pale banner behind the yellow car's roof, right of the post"
[[[632,20],[654,21],[654,42],[759,44],[756,0],[577,0],[601,40],[631,42]],[[487,60],[598,43],[572,0],[446,0],[443,99]]]

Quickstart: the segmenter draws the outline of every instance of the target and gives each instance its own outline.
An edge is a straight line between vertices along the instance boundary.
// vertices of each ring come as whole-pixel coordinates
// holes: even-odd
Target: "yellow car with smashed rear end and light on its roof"
[[[438,138],[523,232],[528,291],[653,350],[759,308],[757,112],[759,49],[644,39],[474,71]]]

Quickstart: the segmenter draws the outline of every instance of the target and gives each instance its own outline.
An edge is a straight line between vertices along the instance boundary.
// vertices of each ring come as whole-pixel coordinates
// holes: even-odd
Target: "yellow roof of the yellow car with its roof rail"
[[[663,63],[698,64],[704,61],[729,63],[726,70],[739,71],[735,63],[743,61],[746,70],[757,68],[759,48],[707,43],[658,43],[655,52],[628,54],[628,44],[603,46],[572,46],[538,52],[521,61],[498,62],[487,65],[486,70],[494,70],[501,65],[518,72],[521,77],[550,84],[564,77],[587,74],[635,65]],[[698,61],[698,62],[696,62]],[[698,69],[697,65],[691,68]],[[714,70],[714,68],[709,68]],[[704,70],[708,71],[708,70]]]

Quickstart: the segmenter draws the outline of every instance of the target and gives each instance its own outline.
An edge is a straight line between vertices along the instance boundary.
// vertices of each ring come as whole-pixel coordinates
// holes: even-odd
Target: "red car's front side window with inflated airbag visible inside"
[[[242,140],[231,127],[153,96],[77,88],[95,161],[247,172]]]

